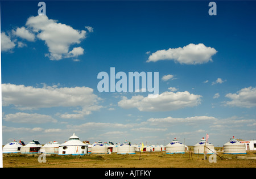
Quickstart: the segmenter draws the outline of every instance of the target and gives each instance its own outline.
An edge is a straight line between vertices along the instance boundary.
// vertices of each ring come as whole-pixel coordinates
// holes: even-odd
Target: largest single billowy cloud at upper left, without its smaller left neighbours
[[[27,19],[26,25],[37,33],[38,39],[46,42],[49,49],[49,54],[46,56],[52,60],[70,57],[69,46],[80,44],[86,34],[84,30],[78,31],[69,25],[57,23],[57,20],[48,19],[46,15],[31,16]],[[73,50],[71,51],[73,55],[83,54],[81,47]]]

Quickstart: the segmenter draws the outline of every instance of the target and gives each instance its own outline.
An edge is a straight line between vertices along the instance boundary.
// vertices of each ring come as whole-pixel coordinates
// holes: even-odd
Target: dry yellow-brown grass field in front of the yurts
[[[255,168],[256,152],[246,155],[218,153],[216,163],[203,160],[204,155],[165,154],[165,152],[142,152],[133,155],[88,154],[84,156],[46,156],[39,163],[39,154],[3,154],[4,168]],[[242,158],[241,157],[245,157]],[[249,158],[250,157],[250,158]]]

